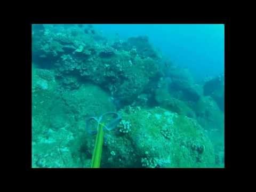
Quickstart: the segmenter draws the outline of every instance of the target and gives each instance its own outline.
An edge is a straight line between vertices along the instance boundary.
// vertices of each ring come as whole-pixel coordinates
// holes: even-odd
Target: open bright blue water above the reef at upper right
[[[224,25],[222,24],[98,24],[108,38],[147,35],[149,41],[175,65],[190,70],[196,81],[224,73]]]

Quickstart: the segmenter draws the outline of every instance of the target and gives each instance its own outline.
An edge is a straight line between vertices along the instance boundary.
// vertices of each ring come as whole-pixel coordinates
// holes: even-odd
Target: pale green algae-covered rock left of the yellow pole
[[[39,80],[33,71],[33,82]],[[87,116],[115,110],[109,95],[91,84],[70,91],[60,89],[55,81],[47,83],[48,89],[36,89],[33,83],[33,167],[89,166],[90,159],[79,153],[79,135],[86,132]],[[93,147],[92,138],[90,142]]]

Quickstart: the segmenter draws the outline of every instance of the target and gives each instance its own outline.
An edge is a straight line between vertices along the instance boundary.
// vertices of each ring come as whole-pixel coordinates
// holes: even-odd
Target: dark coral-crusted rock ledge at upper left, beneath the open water
[[[94,41],[92,34],[85,34],[79,27],[60,28],[59,33],[54,33],[53,26],[48,28],[43,34],[35,30],[33,60],[39,67],[53,68],[70,89],[77,89],[81,81],[90,81],[122,102],[131,103],[159,74],[156,57],[141,51],[142,47],[151,50],[148,39],[130,39],[129,46],[116,50]]]

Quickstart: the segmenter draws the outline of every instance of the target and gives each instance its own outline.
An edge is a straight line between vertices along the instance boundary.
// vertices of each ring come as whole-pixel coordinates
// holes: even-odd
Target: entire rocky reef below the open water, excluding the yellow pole
[[[223,130],[223,79],[201,86],[187,69],[163,67],[146,36],[109,42],[92,25],[32,34],[33,167],[90,167],[85,120],[107,111],[122,121],[105,132],[102,167],[223,164],[222,138],[210,138]]]

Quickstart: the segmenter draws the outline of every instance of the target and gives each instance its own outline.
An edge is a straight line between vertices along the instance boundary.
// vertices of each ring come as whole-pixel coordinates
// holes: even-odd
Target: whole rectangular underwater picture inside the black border
[[[31,167],[225,167],[224,25],[31,29]]]

